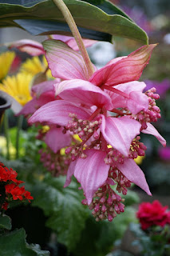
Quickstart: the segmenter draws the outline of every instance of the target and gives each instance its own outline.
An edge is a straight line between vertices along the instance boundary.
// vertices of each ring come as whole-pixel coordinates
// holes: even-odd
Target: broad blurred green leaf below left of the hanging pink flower
[[[83,195],[76,182],[64,188],[65,177],[45,178],[35,186],[34,206],[49,217],[46,225],[57,231],[57,241],[70,250],[76,246],[89,211],[81,204]],[[37,195],[37,196],[36,196]]]

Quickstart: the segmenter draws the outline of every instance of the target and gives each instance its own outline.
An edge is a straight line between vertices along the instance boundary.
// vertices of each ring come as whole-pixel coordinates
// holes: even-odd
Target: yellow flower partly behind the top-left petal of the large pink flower
[[[24,74],[35,75],[40,72],[44,72],[47,66],[48,66],[48,63],[45,59],[45,56],[42,57],[42,62],[40,58],[35,56],[34,58],[27,59],[26,62],[22,64],[20,71]],[[50,70],[48,70],[46,74],[49,78],[52,78]]]

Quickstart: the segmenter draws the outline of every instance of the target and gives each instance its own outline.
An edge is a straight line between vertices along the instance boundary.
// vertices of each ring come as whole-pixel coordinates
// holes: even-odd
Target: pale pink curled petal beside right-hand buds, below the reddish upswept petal
[[[126,82],[114,86],[117,90],[121,90],[128,95],[129,98],[125,98],[116,93],[109,93],[113,101],[113,106],[117,107],[127,107],[132,114],[137,114],[141,110],[148,110],[148,97],[142,93],[145,87],[144,82]]]

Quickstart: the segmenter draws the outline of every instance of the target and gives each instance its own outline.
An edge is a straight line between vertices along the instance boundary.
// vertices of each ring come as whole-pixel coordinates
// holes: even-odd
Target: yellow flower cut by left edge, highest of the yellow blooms
[[[0,80],[6,77],[10,71],[10,66],[14,61],[15,53],[13,51],[6,51],[0,55]]]

